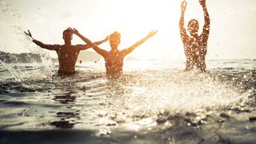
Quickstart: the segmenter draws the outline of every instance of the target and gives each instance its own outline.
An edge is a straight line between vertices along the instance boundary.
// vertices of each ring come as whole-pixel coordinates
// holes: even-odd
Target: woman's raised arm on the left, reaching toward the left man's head
[[[78,32],[78,30],[76,30],[75,28],[73,30],[71,27],[68,27],[68,30],[70,32],[76,34],[77,36],[79,36],[85,43],[89,44],[89,46],[91,46],[98,54],[102,55],[102,57],[106,56],[107,50],[99,48],[96,44],[92,43],[89,39],[87,39],[86,37],[82,36],[82,34],[80,34]]]

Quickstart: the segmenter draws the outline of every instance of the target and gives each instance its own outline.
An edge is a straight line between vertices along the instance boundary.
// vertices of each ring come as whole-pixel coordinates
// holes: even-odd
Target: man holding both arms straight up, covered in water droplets
[[[186,55],[186,68],[185,71],[191,71],[196,65],[202,72],[206,71],[205,56],[207,52],[207,40],[210,30],[210,18],[206,9],[206,0],[199,0],[199,3],[203,7],[204,12],[204,26],[203,32],[198,36],[198,21],[193,19],[188,22],[188,31],[190,37],[187,35],[187,31],[184,27],[184,12],[187,8],[187,2],[181,3],[181,17],[180,17],[180,35],[184,44],[184,52]]]

